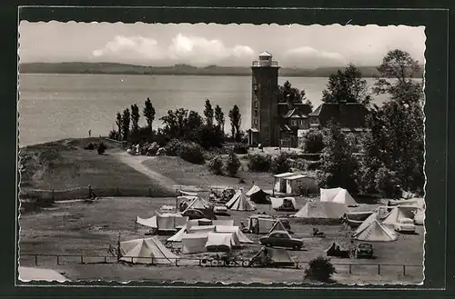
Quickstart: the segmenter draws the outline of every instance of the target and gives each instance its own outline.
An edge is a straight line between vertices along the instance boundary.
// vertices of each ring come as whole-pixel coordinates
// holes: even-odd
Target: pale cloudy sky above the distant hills
[[[424,26],[122,24],[22,21],[29,62],[249,66],[263,51],[282,67],[380,65],[401,49],[424,63]]]

